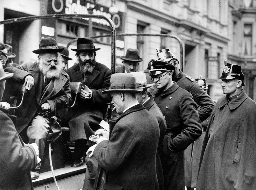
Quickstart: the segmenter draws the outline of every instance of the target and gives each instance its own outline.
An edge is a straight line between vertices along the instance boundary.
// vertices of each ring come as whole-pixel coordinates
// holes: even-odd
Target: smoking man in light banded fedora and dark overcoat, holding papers
[[[100,137],[87,151],[108,171],[103,189],[159,189],[156,151],[159,126],[152,112],[139,104],[135,77],[127,73],[111,76],[110,93],[120,117],[110,128],[109,140]]]

